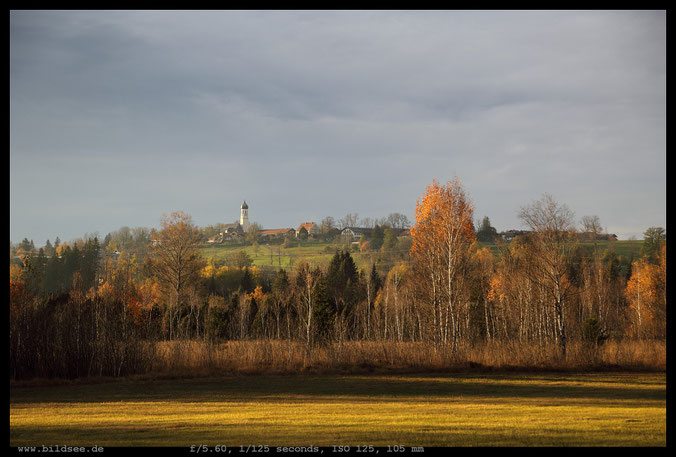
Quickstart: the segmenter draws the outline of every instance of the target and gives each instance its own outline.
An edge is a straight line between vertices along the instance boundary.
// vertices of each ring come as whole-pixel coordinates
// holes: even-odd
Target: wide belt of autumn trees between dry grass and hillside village
[[[147,372],[157,343],[175,340],[285,340],[306,354],[364,340],[449,353],[509,341],[565,357],[570,341],[666,339],[663,229],[651,228],[645,255],[624,268],[580,243],[572,211],[546,194],[521,208],[530,231],[499,256],[478,242],[459,180],[433,182],[415,214],[410,258],[385,272],[358,269],[348,250],[325,268],[208,264],[182,212],[149,232],[143,258],[112,255],[96,237],[27,256],[10,267],[10,375]]]

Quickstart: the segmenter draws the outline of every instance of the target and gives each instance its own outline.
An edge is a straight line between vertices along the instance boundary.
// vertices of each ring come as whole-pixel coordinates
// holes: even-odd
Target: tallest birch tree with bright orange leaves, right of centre
[[[454,283],[468,247],[474,241],[473,208],[460,180],[445,186],[436,180],[416,203],[411,228],[411,257],[433,313],[435,347],[451,343],[456,350],[459,316]]]

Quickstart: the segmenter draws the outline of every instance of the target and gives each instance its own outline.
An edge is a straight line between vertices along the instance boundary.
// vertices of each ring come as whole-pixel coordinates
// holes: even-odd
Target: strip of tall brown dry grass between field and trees
[[[285,374],[298,372],[438,371],[665,371],[666,343],[609,341],[591,350],[571,343],[566,357],[555,345],[485,343],[460,347],[456,354],[411,342],[335,343],[312,350],[287,341],[163,342],[157,346],[158,375]]]

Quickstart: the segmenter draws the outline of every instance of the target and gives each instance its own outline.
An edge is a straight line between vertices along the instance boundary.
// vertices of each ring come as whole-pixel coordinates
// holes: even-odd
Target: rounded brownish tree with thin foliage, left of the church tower
[[[169,307],[169,337],[175,320],[187,304],[190,288],[197,285],[205,262],[199,254],[200,232],[192,218],[177,211],[162,217],[162,230],[153,236],[148,267],[165,292]]]

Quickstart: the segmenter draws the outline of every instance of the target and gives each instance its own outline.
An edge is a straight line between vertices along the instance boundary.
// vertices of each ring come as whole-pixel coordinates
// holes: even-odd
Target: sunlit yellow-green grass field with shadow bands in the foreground
[[[256,376],[10,388],[10,445],[665,446],[666,374]]]

